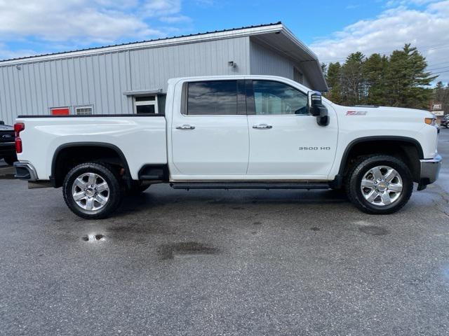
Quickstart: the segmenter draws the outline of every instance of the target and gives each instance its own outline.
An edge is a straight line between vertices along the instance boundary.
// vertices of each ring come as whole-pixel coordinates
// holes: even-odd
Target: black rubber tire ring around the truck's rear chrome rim
[[[104,180],[109,188],[106,195],[103,195],[107,196],[108,199],[107,202],[105,202],[105,204],[102,205],[101,209],[94,209],[94,210],[83,209],[81,205],[79,205],[74,200],[74,196],[72,195],[72,190],[73,188],[75,188],[74,187],[75,180],[79,176],[89,173],[93,173],[100,176],[100,181]],[[70,170],[70,172],[68,172],[67,175],[65,176],[64,183],[62,185],[62,193],[64,195],[64,200],[65,203],[67,204],[67,207],[69,207],[69,209],[74,214],[76,214],[76,216],[86,219],[106,218],[119,207],[119,205],[121,204],[121,200],[123,198],[123,193],[119,183],[119,177],[116,174],[114,174],[113,169],[107,167],[106,165],[101,165],[93,162],[83,163]]]

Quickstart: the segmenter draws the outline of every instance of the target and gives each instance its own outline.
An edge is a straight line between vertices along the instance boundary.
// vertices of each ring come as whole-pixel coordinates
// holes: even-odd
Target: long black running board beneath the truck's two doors
[[[326,182],[173,182],[173,189],[329,189]]]

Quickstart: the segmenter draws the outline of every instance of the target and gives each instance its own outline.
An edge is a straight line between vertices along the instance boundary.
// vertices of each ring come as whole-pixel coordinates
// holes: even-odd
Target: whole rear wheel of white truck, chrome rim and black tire
[[[122,192],[119,180],[109,167],[83,163],[65,176],[64,200],[70,210],[86,219],[100,219],[119,207]]]

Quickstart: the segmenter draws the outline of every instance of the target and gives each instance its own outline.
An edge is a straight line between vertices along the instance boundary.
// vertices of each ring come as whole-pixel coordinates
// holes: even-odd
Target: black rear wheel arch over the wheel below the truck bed
[[[126,160],[125,155],[123,154],[123,152],[121,151],[121,149],[119,147],[117,147],[113,144],[107,144],[104,142],[71,142],[71,143],[60,145],[58,148],[56,148],[55,153],[53,153],[53,158],[51,161],[50,181],[54,188],[59,188],[60,186],[62,186],[62,182],[64,181],[64,178],[65,178],[64,172],[65,172],[65,170],[67,170],[67,168],[61,169],[62,168],[61,160],[63,158],[65,158],[67,153],[76,153],[76,151],[86,150],[86,149],[90,150],[89,151],[90,155],[86,156],[86,159],[88,159],[88,160],[95,160],[95,154],[93,154],[93,153],[100,153],[99,151],[103,151],[103,153],[101,153],[97,159],[102,158],[102,159],[111,160],[111,159],[113,159],[113,157],[111,157],[109,155],[114,153],[113,154],[114,157],[119,159],[116,163],[119,163],[119,165],[121,165],[123,167],[123,169],[125,169],[123,177],[125,178],[126,183],[130,185],[130,183],[132,181],[132,177],[130,174],[128,161]],[[107,151],[105,151],[105,150],[107,150]],[[79,160],[76,160],[76,158],[74,158],[74,159],[77,163],[87,162],[86,159],[82,159],[82,158],[78,158]],[[109,163],[111,163],[111,162],[109,162]],[[112,162],[112,163],[114,163],[114,162]],[[65,173],[67,174],[67,172],[65,172]]]

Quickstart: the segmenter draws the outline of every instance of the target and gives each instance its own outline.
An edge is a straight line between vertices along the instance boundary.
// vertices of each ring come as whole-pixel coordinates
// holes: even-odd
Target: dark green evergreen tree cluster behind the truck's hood
[[[427,61],[410,44],[391,55],[366,57],[353,52],[345,62],[323,64],[331,101],[348,106],[375,105],[429,109],[435,97],[431,82],[437,76],[426,71]],[[445,92],[448,87],[443,87]]]

